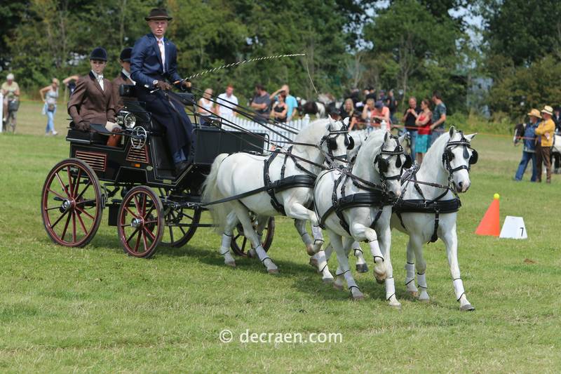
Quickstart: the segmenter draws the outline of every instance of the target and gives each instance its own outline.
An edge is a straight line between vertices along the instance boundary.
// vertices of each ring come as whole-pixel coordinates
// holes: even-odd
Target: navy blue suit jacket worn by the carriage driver
[[[154,79],[165,78],[170,82],[183,81],[177,74],[177,48],[168,39],[165,45],[165,72],[162,66],[160,48],[156,36],[149,33],[135,42],[130,58],[130,77],[146,88],[154,88]]]

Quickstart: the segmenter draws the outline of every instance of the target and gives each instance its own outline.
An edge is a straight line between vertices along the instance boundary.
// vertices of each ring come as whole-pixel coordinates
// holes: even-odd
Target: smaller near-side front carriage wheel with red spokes
[[[125,253],[151,257],[162,239],[163,230],[160,198],[146,186],[130,189],[119,207],[117,219],[117,232]]]

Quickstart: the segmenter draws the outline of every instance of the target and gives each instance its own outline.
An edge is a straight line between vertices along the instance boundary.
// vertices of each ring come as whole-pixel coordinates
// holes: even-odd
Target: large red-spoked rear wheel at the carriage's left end
[[[102,212],[100,182],[87,163],[66,159],[50,170],[41,194],[41,215],[53,242],[86,246],[100,227]]]

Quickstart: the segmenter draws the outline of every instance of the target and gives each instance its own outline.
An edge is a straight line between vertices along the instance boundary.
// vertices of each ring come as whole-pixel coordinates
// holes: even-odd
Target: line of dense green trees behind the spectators
[[[560,102],[561,3],[555,0],[22,0],[0,4],[0,67],[34,91],[53,76],[88,72],[103,46],[107,76],[119,52],[148,32],[150,8],[165,7],[167,36],[186,76],[232,62],[306,53],[240,65],[194,79],[247,97],[271,90],[343,97],[352,87],[393,88],[419,98],[438,90],[454,111],[522,116]],[[539,10],[539,11],[538,11]],[[478,22],[469,22],[478,17]],[[475,36],[475,37],[474,37]],[[474,42],[474,39],[477,39]],[[489,89],[475,90],[481,79]]]

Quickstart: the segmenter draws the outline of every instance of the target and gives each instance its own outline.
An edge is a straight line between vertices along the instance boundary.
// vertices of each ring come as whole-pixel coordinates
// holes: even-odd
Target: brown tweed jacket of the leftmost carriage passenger
[[[68,114],[75,125],[80,122],[104,125],[107,121],[115,121],[111,81],[104,78],[103,88],[102,90],[92,72],[78,79],[76,90],[68,102]]]

